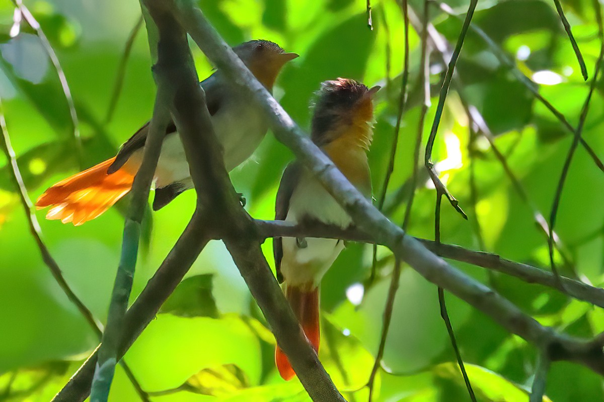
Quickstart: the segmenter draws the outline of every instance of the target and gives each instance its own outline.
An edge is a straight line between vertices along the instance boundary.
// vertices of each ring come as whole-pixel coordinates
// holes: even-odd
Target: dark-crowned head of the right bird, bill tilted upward
[[[326,145],[349,134],[359,136],[364,148],[371,142],[373,96],[381,87],[369,89],[349,78],[321,83],[312,118],[311,136],[316,145]]]

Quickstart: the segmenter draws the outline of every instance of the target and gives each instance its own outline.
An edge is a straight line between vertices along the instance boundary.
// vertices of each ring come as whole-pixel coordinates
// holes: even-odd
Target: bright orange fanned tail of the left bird
[[[51,207],[47,219],[60,219],[75,226],[97,218],[132,187],[134,175],[120,169],[107,174],[115,158],[75,174],[46,190],[36,201],[37,209]]]

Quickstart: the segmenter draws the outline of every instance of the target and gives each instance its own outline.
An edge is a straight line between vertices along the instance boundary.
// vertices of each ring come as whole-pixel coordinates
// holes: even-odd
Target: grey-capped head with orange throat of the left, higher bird
[[[298,54],[284,51],[277,43],[262,39],[242,43],[233,51],[268,90],[275,84],[281,68],[298,57]]]

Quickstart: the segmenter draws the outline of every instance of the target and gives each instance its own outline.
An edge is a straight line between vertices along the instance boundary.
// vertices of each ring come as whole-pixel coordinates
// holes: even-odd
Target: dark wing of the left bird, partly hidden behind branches
[[[220,93],[219,85],[215,76],[216,74],[213,74],[200,83],[205,90],[205,101],[208,105],[208,111],[210,111],[211,116],[214,116],[219,110],[221,95],[223,95]],[[111,166],[109,166],[109,169],[107,169],[108,174],[112,174],[120,169],[122,166],[124,166],[124,163],[130,159],[130,156],[132,156],[133,152],[143,148],[145,141],[147,140],[147,134],[149,133],[149,123],[150,122],[146,122],[143,127],[139,128],[138,131],[134,133],[132,137],[130,137],[129,140],[124,142],[124,144],[120,147],[120,151],[118,151],[117,155],[115,156],[114,162],[111,164]],[[176,125],[172,120],[170,120],[170,124],[168,124],[168,127],[165,130],[165,135],[167,136],[172,133],[176,133]]]

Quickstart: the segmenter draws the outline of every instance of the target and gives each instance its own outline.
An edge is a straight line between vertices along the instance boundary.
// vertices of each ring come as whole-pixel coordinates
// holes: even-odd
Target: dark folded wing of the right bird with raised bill
[[[288,216],[289,201],[292,198],[294,189],[300,180],[302,166],[298,162],[292,162],[285,168],[279,189],[277,190],[277,202],[275,203],[275,221],[284,221]],[[281,237],[276,237],[272,241],[272,251],[275,256],[275,271],[277,272],[277,280],[283,282],[281,274],[281,259],[283,258],[283,241]]]

